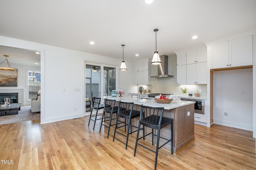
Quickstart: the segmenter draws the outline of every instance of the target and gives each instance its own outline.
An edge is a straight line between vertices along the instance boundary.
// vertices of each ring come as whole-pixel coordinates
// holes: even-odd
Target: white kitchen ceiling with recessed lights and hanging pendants
[[[125,61],[152,57],[155,28],[157,51],[171,55],[254,27],[256,0],[0,1],[0,36],[116,59],[124,44]]]

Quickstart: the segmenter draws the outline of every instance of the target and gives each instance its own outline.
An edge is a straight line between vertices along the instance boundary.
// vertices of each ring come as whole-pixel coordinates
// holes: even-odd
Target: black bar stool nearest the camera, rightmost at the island
[[[139,138],[139,133],[137,133],[136,144],[135,144],[135,149],[134,149],[134,156],[136,154],[137,145],[140,145],[140,146],[156,153],[155,170],[156,170],[156,164],[157,164],[158,149],[162,148],[168,142],[171,142],[172,147],[173,147],[173,140],[172,140],[173,139],[173,119],[163,117],[163,113],[164,113],[164,107],[150,107],[150,106],[141,105],[140,121],[139,121],[138,127],[140,127],[140,125],[144,125],[144,126],[152,129],[151,133],[143,135],[143,137],[146,137],[146,136],[152,134],[152,145],[154,145],[154,136],[157,136],[156,150],[149,149],[148,147],[145,147],[144,145],[141,145],[140,143],[138,143],[138,140],[143,138],[143,137]],[[163,127],[165,127],[169,124],[171,124],[171,139],[166,139],[166,138],[160,137],[160,129],[162,129]],[[157,131],[158,131],[157,135],[154,135],[154,129],[157,129]],[[160,138],[166,140],[166,143],[164,143],[163,145],[161,145],[159,147],[159,139]],[[173,149],[171,149],[171,150],[172,150],[172,154],[173,154]]]

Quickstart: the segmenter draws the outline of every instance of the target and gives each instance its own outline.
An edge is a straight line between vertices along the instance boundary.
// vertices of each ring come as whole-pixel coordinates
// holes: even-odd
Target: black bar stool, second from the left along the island
[[[118,111],[118,106],[115,106],[115,103],[116,103],[116,100],[104,99],[104,110],[103,110],[103,114],[102,114],[102,118],[101,118],[100,131],[101,131],[102,125],[104,125],[105,127],[108,127],[108,136],[109,136],[110,127],[115,125],[115,124],[111,125],[112,115],[114,113],[117,113],[117,111]],[[106,113],[108,113],[110,115],[108,117],[106,117]],[[107,118],[107,120],[106,120],[106,118]],[[104,119],[104,121],[103,121],[103,119]],[[116,118],[114,118],[114,119],[116,119]],[[109,121],[108,126],[105,125],[106,121]],[[104,124],[103,124],[103,122],[104,122]]]

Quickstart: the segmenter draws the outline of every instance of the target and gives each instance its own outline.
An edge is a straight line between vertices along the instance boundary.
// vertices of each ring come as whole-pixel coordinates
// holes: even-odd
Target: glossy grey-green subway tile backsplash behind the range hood
[[[176,96],[182,96],[183,93],[180,88],[188,88],[188,92],[192,91],[194,94],[195,90],[202,90],[200,97],[207,96],[207,86],[206,84],[184,84],[177,85],[177,56],[168,56],[168,74],[174,75],[171,78],[152,78],[152,86],[148,86],[150,93],[168,93],[175,94]],[[158,75],[158,66],[152,65],[152,75]],[[153,91],[154,89],[154,91]]]

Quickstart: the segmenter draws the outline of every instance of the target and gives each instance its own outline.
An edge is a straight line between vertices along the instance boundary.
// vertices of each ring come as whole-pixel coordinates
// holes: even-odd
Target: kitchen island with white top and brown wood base
[[[183,147],[188,145],[194,140],[194,103],[191,101],[176,100],[172,101],[170,104],[160,104],[154,101],[154,99],[148,98],[136,98],[125,96],[122,98],[105,96],[104,99],[113,99],[116,101],[123,102],[134,102],[134,110],[140,111],[140,105],[153,106],[153,107],[164,107],[164,117],[173,119],[173,152],[177,154],[182,150]],[[118,102],[116,102],[118,106]],[[132,119],[133,125],[138,125],[139,118]],[[171,125],[168,125],[161,129],[161,136],[164,138],[170,138],[171,136]],[[135,130],[135,129],[134,129]],[[151,129],[145,128],[145,133],[151,132]],[[157,132],[156,132],[157,133]],[[136,134],[136,133],[134,133]],[[142,136],[142,131],[140,131],[140,136]],[[151,141],[151,136],[147,136],[146,140]],[[160,143],[162,141],[160,140]],[[170,143],[164,145],[165,149],[171,150]]]

